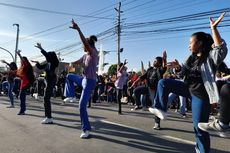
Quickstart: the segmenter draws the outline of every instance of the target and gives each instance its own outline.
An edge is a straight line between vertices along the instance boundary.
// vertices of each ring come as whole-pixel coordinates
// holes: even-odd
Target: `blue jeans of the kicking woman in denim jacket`
[[[201,153],[209,153],[210,138],[207,132],[201,131],[198,128],[199,122],[208,122],[210,104],[209,101],[203,101],[196,96],[190,95],[187,85],[178,80],[161,79],[157,85],[157,93],[155,97],[155,107],[157,109],[167,111],[168,95],[174,93],[186,98],[192,98],[192,119],[195,130],[196,148]]]

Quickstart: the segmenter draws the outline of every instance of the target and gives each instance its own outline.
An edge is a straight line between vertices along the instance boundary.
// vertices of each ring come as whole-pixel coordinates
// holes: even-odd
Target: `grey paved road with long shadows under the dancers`
[[[191,114],[181,118],[169,111],[162,130],[152,129],[153,116],[146,111],[130,111],[132,106],[97,103],[88,109],[93,127],[91,138],[79,138],[80,118],[77,103],[61,105],[52,99],[55,124],[42,125],[42,100],[27,98],[27,112],[16,115],[19,107],[0,97],[0,153],[193,153],[194,134]],[[230,139],[211,135],[212,153],[229,153]]]

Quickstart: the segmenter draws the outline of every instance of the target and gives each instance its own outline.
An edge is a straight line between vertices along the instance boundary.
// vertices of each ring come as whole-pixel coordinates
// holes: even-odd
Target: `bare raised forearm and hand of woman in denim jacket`
[[[214,45],[215,46],[219,46],[221,44],[221,37],[220,34],[217,30],[217,26],[220,23],[220,21],[223,19],[225,15],[225,12],[222,13],[219,18],[216,21],[213,21],[213,19],[210,17],[210,27],[212,29],[212,37],[213,37],[213,41],[214,41]]]

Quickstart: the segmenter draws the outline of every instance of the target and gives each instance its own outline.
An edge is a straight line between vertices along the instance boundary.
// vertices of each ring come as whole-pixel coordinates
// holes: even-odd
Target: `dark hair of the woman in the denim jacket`
[[[208,57],[209,52],[212,50],[212,44],[214,43],[212,36],[205,32],[193,33],[191,37],[195,37],[197,41],[201,43],[201,57],[199,59],[199,64],[202,64]]]

